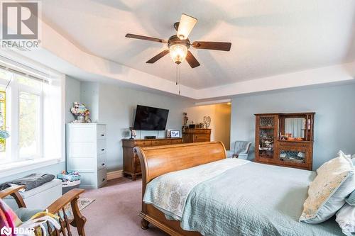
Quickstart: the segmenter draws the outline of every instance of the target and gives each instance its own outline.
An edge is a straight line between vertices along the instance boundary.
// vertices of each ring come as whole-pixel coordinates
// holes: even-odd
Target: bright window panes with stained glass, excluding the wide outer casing
[[[0,138],[0,163],[43,157],[44,83],[0,69],[0,130],[10,134]]]

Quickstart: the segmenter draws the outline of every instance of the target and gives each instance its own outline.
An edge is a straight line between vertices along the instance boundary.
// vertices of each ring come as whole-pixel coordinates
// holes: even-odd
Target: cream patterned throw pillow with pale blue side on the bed
[[[351,159],[342,151],[339,151],[338,157],[322,164],[308,189],[300,221],[317,224],[331,218],[354,191],[354,174]]]

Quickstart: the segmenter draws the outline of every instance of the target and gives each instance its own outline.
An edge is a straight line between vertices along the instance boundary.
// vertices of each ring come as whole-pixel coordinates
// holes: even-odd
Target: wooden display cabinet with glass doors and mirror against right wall
[[[256,114],[255,161],[312,169],[315,113]]]

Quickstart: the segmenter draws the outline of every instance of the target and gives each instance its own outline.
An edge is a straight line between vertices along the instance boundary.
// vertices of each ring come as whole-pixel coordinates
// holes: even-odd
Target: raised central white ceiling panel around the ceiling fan
[[[204,89],[355,61],[354,0],[43,1],[43,21],[77,47],[127,67],[175,81],[167,47],[125,38],[168,39],[181,13],[199,21],[190,40],[231,42],[230,52],[190,49],[200,67],[181,67],[182,81]]]

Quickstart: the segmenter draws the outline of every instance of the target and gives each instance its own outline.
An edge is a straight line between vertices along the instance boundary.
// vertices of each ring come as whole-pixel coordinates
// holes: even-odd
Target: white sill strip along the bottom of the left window
[[[0,178],[13,174],[21,174],[23,172],[28,172],[41,167],[47,167],[52,164],[58,164],[60,162],[64,162],[64,159],[31,159],[23,162],[1,164]]]

